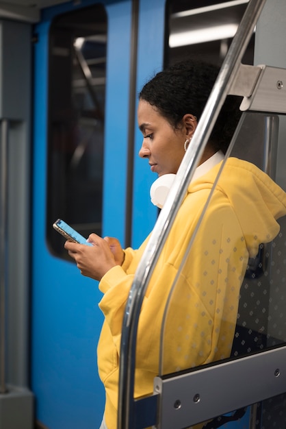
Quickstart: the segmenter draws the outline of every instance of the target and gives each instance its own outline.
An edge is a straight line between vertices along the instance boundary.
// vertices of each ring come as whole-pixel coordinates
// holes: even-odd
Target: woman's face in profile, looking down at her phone
[[[185,117],[190,117],[190,127],[185,126]],[[151,170],[161,176],[176,174],[185,155],[184,143],[194,133],[192,115],[185,115],[180,130],[174,130],[170,123],[148,103],[140,99],[138,104],[138,125],[143,134],[141,158],[148,158]]]

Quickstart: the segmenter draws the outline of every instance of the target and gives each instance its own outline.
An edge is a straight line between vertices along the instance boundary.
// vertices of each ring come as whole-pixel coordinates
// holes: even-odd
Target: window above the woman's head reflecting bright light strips
[[[220,66],[248,0],[167,0],[165,65],[191,57]],[[243,58],[253,64],[254,35]]]

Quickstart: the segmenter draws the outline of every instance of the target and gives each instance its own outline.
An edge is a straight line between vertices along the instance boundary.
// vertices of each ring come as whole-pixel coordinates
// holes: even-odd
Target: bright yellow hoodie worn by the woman
[[[159,373],[229,357],[248,258],[257,255],[259,244],[272,241],[279,231],[276,219],[286,214],[286,194],[268,175],[249,162],[229,158],[179,271],[219,168],[220,164],[188,187],[148,284],[138,325],[135,397],[153,393]],[[138,250],[126,249],[123,265],[110,269],[99,284],[105,321],[98,365],[108,429],[116,429],[122,318],[147,241]]]

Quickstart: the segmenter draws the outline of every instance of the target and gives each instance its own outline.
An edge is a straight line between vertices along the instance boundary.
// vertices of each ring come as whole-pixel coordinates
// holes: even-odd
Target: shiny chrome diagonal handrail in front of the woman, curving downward
[[[134,380],[135,380],[135,345],[138,330],[138,320],[144,299],[161,249],[164,246],[168,232],[181,206],[187,186],[200,160],[207,141],[216,123],[235,75],[241,65],[242,56],[248,45],[255,25],[261,14],[266,0],[250,0],[242,22],[237,29],[220,73],[213,86],[209,100],[200,118],[196,132],[177,172],[174,184],[170,190],[164,208],[161,210],[146,249],[135,273],[133,284],[125,307],[122,322],[122,337],[120,345],[120,372],[118,388],[118,429],[133,428],[134,415]]]

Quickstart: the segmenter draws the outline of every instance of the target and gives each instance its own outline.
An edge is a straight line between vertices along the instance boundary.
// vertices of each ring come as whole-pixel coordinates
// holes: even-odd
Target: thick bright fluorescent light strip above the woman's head
[[[211,40],[222,40],[233,38],[237,32],[237,24],[217,25],[190,32],[171,34],[169,37],[170,48],[179,46],[196,45],[197,43],[210,42]]]

